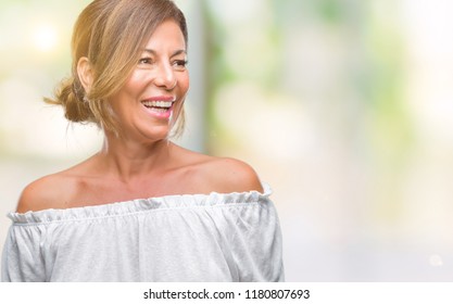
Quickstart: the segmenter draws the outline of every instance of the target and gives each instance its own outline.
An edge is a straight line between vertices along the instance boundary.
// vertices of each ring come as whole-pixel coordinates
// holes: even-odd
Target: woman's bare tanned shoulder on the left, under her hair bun
[[[67,177],[64,174],[52,174],[41,177],[27,187],[21,193],[17,210],[18,213],[61,207],[67,195]]]

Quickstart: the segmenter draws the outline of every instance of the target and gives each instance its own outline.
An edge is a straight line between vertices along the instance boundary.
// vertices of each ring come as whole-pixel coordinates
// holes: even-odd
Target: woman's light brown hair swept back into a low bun
[[[113,130],[118,129],[108,102],[134,71],[144,43],[155,28],[166,20],[179,25],[186,46],[186,18],[171,0],[95,0],[80,13],[72,38],[72,76],[63,79],[54,92],[51,104],[61,104],[65,117],[76,123],[96,123]],[[93,71],[89,93],[81,86],[77,63],[86,56]],[[180,134],[184,112],[179,114],[175,134]]]

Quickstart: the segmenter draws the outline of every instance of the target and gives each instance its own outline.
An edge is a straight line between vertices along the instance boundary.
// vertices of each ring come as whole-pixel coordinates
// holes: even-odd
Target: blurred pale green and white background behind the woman
[[[89,2],[0,1],[0,246],[28,182],[100,148],[42,102]],[[179,143],[270,185],[287,280],[453,280],[453,2],[175,2],[190,31]]]

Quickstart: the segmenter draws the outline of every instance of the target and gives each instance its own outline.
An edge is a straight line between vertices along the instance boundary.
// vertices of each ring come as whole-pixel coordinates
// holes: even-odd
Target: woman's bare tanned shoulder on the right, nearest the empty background
[[[211,157],[202,165],[206,186],[216,192],[263,192],[256,172],[247,163],[229,157]]]

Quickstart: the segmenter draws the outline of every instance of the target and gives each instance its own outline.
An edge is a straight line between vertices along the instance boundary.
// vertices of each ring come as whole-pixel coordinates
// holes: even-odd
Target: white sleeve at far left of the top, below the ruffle
[[[40,253],[42,231],[37,226],[12,225],[7,236],[1,261],[3,282],[46,281]]]

